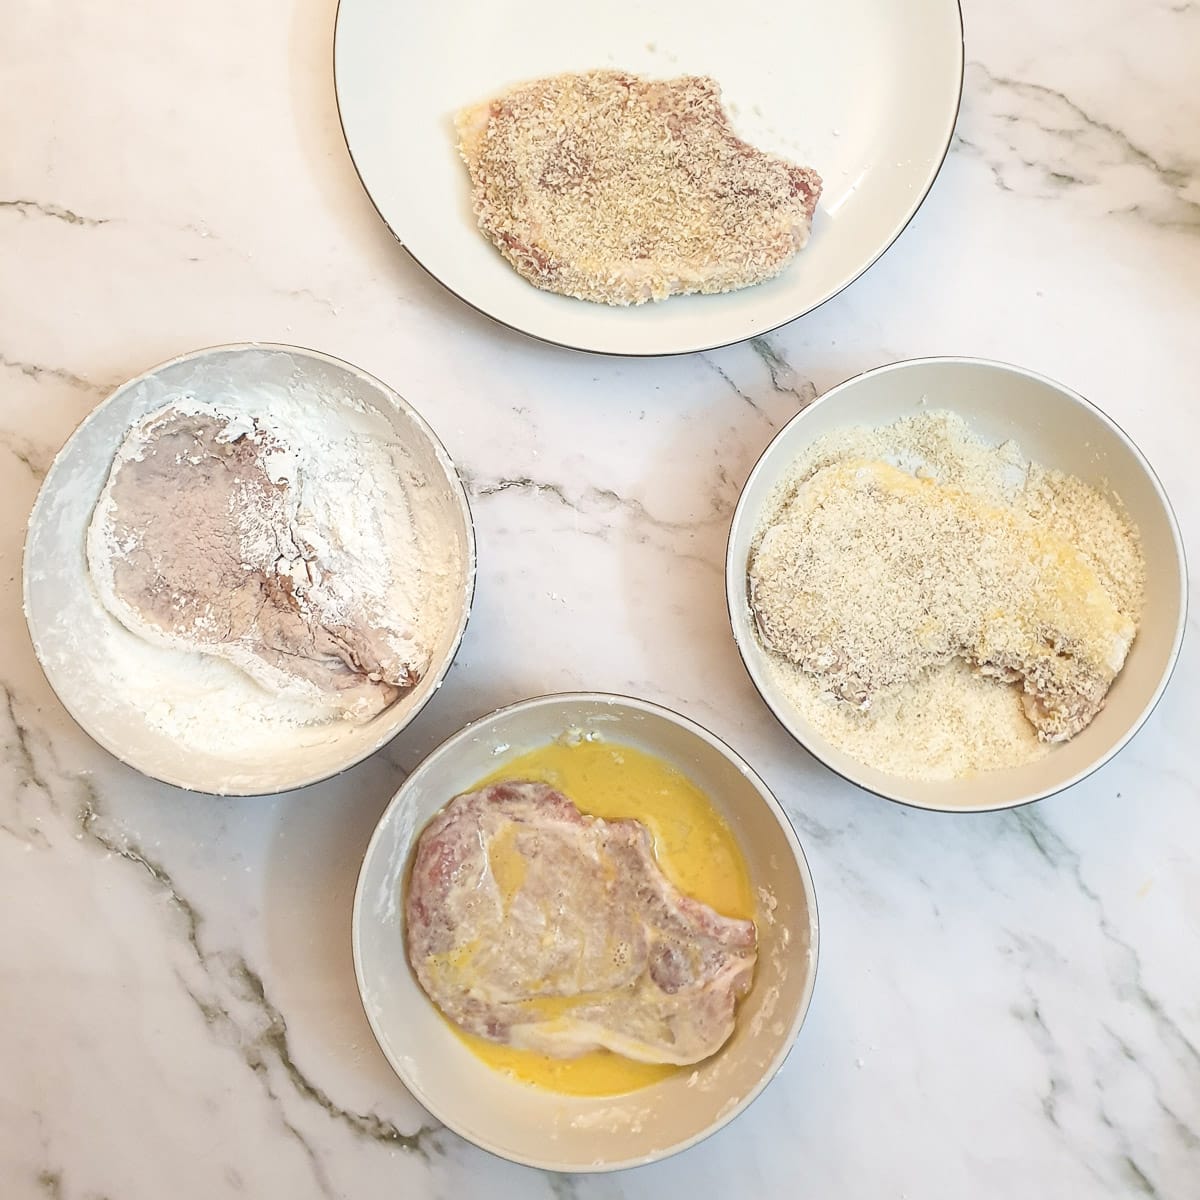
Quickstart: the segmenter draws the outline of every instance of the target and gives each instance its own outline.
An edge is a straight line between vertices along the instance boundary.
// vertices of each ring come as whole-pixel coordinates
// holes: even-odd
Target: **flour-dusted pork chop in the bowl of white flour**
[[[402,642],[371,628],[305,541],[298,487],[269,469],[286,455],[253,419],[160,409],[118,454],[89,569],[108,611],[148,641],[368,716],[416,682],[424,659],[397,654]]]

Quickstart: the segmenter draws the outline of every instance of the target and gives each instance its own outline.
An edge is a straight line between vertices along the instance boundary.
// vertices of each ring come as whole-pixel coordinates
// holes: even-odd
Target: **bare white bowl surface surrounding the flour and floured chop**
[[[182,391],[216,400],[251,388],[307,388],[322,397],[341,397],[360,407],[362,420],[396,439],[413,472],[427,480],[419,538],[438,538],[451,547],[452,592],[430,670],[384,712],[361,724],[281,725],[264,730],[253,745],[214,751],[188,745],[149,722],[145,708],[131,700],[133,688],[114,686],[115,660],[106,648],[114,636],[137,640],[102,607],[88,572],[84,538],[113,457],[136,421]],[[378,379],[325,354],[290,346],[222,346],[185,354],[122,384],[59,451],[29,518],[25,618],[50,686],[106,750],[167,784],[253,796],[335,775],[408,725],[454,660],[470,613],[474,580],[475,538],[466,492],[442,443],[412,407]],[[215,667],[226,670],[224,664]]]

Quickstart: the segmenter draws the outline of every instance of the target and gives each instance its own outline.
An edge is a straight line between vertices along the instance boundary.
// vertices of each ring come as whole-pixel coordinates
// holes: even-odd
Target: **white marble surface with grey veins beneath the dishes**
[[[332,0],[7,8],[0,1193],[1200,1194],[1195,619],[1117,761],[1033,809],[942,817],[788,742],[720,587],[773,430],[814,389],[918,354],[1081,390],[1194,539],[1200,5],[968,0],[959,134],[899,244],[757,344],[664,361],[534,344],[407,260],[342,145],[332,17]],[[38,479],[107,388],[245,338],[347,358],[424,412],[472,480],[480,584],[450,680],[386,751],[298,794],[210,800],[68,721],[25,635],[20,546]],[[403,772],[468,718],[564,688],[632,691],[727,737],[796,818],[823,922],[810,1018],[750,1111],[667,1163],[570,1180],[475,1151],[404,1093],[348,936]]]

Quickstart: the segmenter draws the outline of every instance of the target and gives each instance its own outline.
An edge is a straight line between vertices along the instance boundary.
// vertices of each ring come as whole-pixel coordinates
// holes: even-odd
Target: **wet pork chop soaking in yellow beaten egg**
[[[492,784],[421,834],[404,910],[430,998],[472,1033],[558,1058],[689,1063],[733,1032],[755,926],[678,892],[638,821],[546,784]]]

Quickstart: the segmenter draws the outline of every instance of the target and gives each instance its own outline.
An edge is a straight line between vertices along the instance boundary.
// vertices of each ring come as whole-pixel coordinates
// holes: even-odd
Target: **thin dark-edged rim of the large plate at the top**
[[[833,292],[822,299],[817,300],[815,304],[809,305],[806,308],[784,320],[776,322],[766,329],[757,329],[754,332],[744,334],[742,336],[732,337],[727,341],[712,342],[701,346],[691,346],[684,349],[670,349],[670,350],[610,350],[600,349],[592,346],[576,346],[571,342],[559,341],[558,338],[550,337],[545,334],[536,334],[532,330],[523,329],[521,325],[514,324],[511,320],[505,320],[503,317],[498,317],[486,308],[480,307],[475,301],[469,300],[461,292],[457,292],[449,283],[446,283],[440,276],[436,275],[434,271],[426,266],[425,263],[416,256],[415,251],[406,245],[404,240],[392,227],[391,222],[384,216],[383,210],[379,208],[378,202],[371,193],[371,188],[367,187],[366,180],[362,178],[362,170],[359,168],[358,160],[354,157],[354,148],[350,145],[350,136],[346,128],[346,116],[342,113],[342,96],[341,89],[338,86],[337,78],[337,38],[342,29],[342,2],[343,0],[337,0],[337,7],[334,11],[334,37],[330,42],[330,64],[332,67],[334,77],[334,104],[337,108],[337,125],[342,133],[342,143],[346,146],[346,152],[349,155],[350,166],[354,168],[354,174],[359,180],[359,186],[366,194],[371,208],[374,209],[376,216],[383,222],[384,228],[391,234],[392,239],[400,246],[400,248],[409,257],[409,259],[415,263],[438,287],[443,288],[445,292],[450,293],[456,300],[467,305],[474,312],[485,317],[487,320],[500,325],[503,329],[511,330],[514,334],[520,334],[522,337],[533,338],[535,342],[540,342],[544,346],[553,346],[563,350],[572,350],[576,354],[599,354],[605,358],[613,359],[668,359],[678,358],[684,354],[708,354],[710,350],[724,349],[727,346],[740,346],[743,342],[749,342],[755,337],[766,337],[769,334],[774,334],[782,329],[785,325],[791,325],[793,322],[800,320],[803,317],[808,317],[809,313],[816,312],[817,308],[827,305],[830,300],[836,299],[853,283],[857,283],[875,264],[883,258],[883,256],[892,250],[892,247],[900,240],[905,230],[912,224],[913,218],[924,208],[925,200],[929,199],[930,192],[934,190],[934,185],[937,182],[938,176],[942,174],[942,168],[946,166],[946,160],[949,157],[950,146],[954,145],[954,134],[958,131],[959,118],[962,115],[962,92],[966,82],[966,26],[962,19],[962,0],[954,0],[954,8],[958,13],[959,19],[959,37],[958,37],[958,49],[959,49],[959,80],[958,80],[958,96],[954,101],[954,118],[950,121],[949,130],[946,134],[946,144],[942,146],[941,155],[937,158],[937,163],[930,172],[929,179],[925,181],[924,190],[917,199],[917,203],[912,206],[912,210],[904,218],[902,223],[895,229],[892,236],[875,252],[874,257],[865,262],[853,275],[844,280]]]

